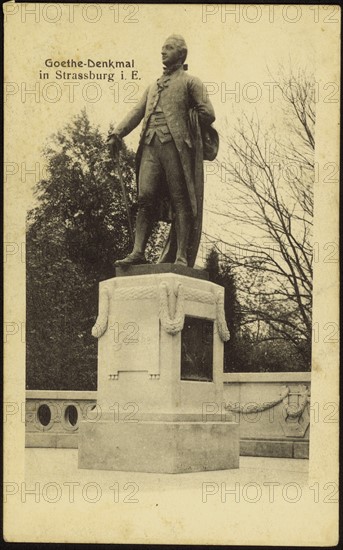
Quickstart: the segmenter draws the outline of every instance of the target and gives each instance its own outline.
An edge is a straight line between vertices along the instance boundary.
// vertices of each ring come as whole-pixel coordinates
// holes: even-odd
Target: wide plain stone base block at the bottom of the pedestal
[[[238,468],[238,428],[234,422],[84,422],[79,468],[168,474]]]

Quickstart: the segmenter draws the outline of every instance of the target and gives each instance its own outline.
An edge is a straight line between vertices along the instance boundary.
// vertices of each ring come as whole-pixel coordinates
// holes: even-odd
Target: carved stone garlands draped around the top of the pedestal
[[[227,328],[224,312],[224,294],[219,291],[216,295],[212,292],[201,291],[184,287],[179,283],[175,292],[175,315],[171,316],[171,293],[173,290],[165,282],[159,285],[159,315],[163,329],[168,334],[175,335],[183,329],[185,322],[185,300],[193,300],[205,304],[216,304],[216,323],[218,334],[223,342],[230,339],[230,332]],[[156,296],[154,287],[130,287],[115,292],[115,299],[121,300],[144,300]],[[107,330],[110,293],[107,287],[100,289],[99,315],[92,328],[92,336],[100,338]]]

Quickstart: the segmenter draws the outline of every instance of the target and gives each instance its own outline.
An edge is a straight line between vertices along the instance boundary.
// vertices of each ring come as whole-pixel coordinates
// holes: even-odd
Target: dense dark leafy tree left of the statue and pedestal
[[[95,389],[99,280],[130,250],[116,170],[105,139],[82,111],[46,147],[47,177],[27,227],[27,387]],[[121,153],[129,202],[134,154]]]

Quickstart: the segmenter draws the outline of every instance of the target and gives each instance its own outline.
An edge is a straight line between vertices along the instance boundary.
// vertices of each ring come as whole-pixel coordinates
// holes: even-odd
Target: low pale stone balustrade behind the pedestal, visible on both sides
[[[240,454],[308,458],[310,372],[225,373],[223,403],[203,412],[240,424]],[[26,446],[77,448],[81,419],[96,422],[96,391],[26,392]]]

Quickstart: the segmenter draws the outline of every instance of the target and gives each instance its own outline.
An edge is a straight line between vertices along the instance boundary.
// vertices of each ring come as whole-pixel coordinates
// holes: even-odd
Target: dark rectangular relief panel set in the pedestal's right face
[[[213,381],[213,321],[185,317],[181,332],[181,380]]]

